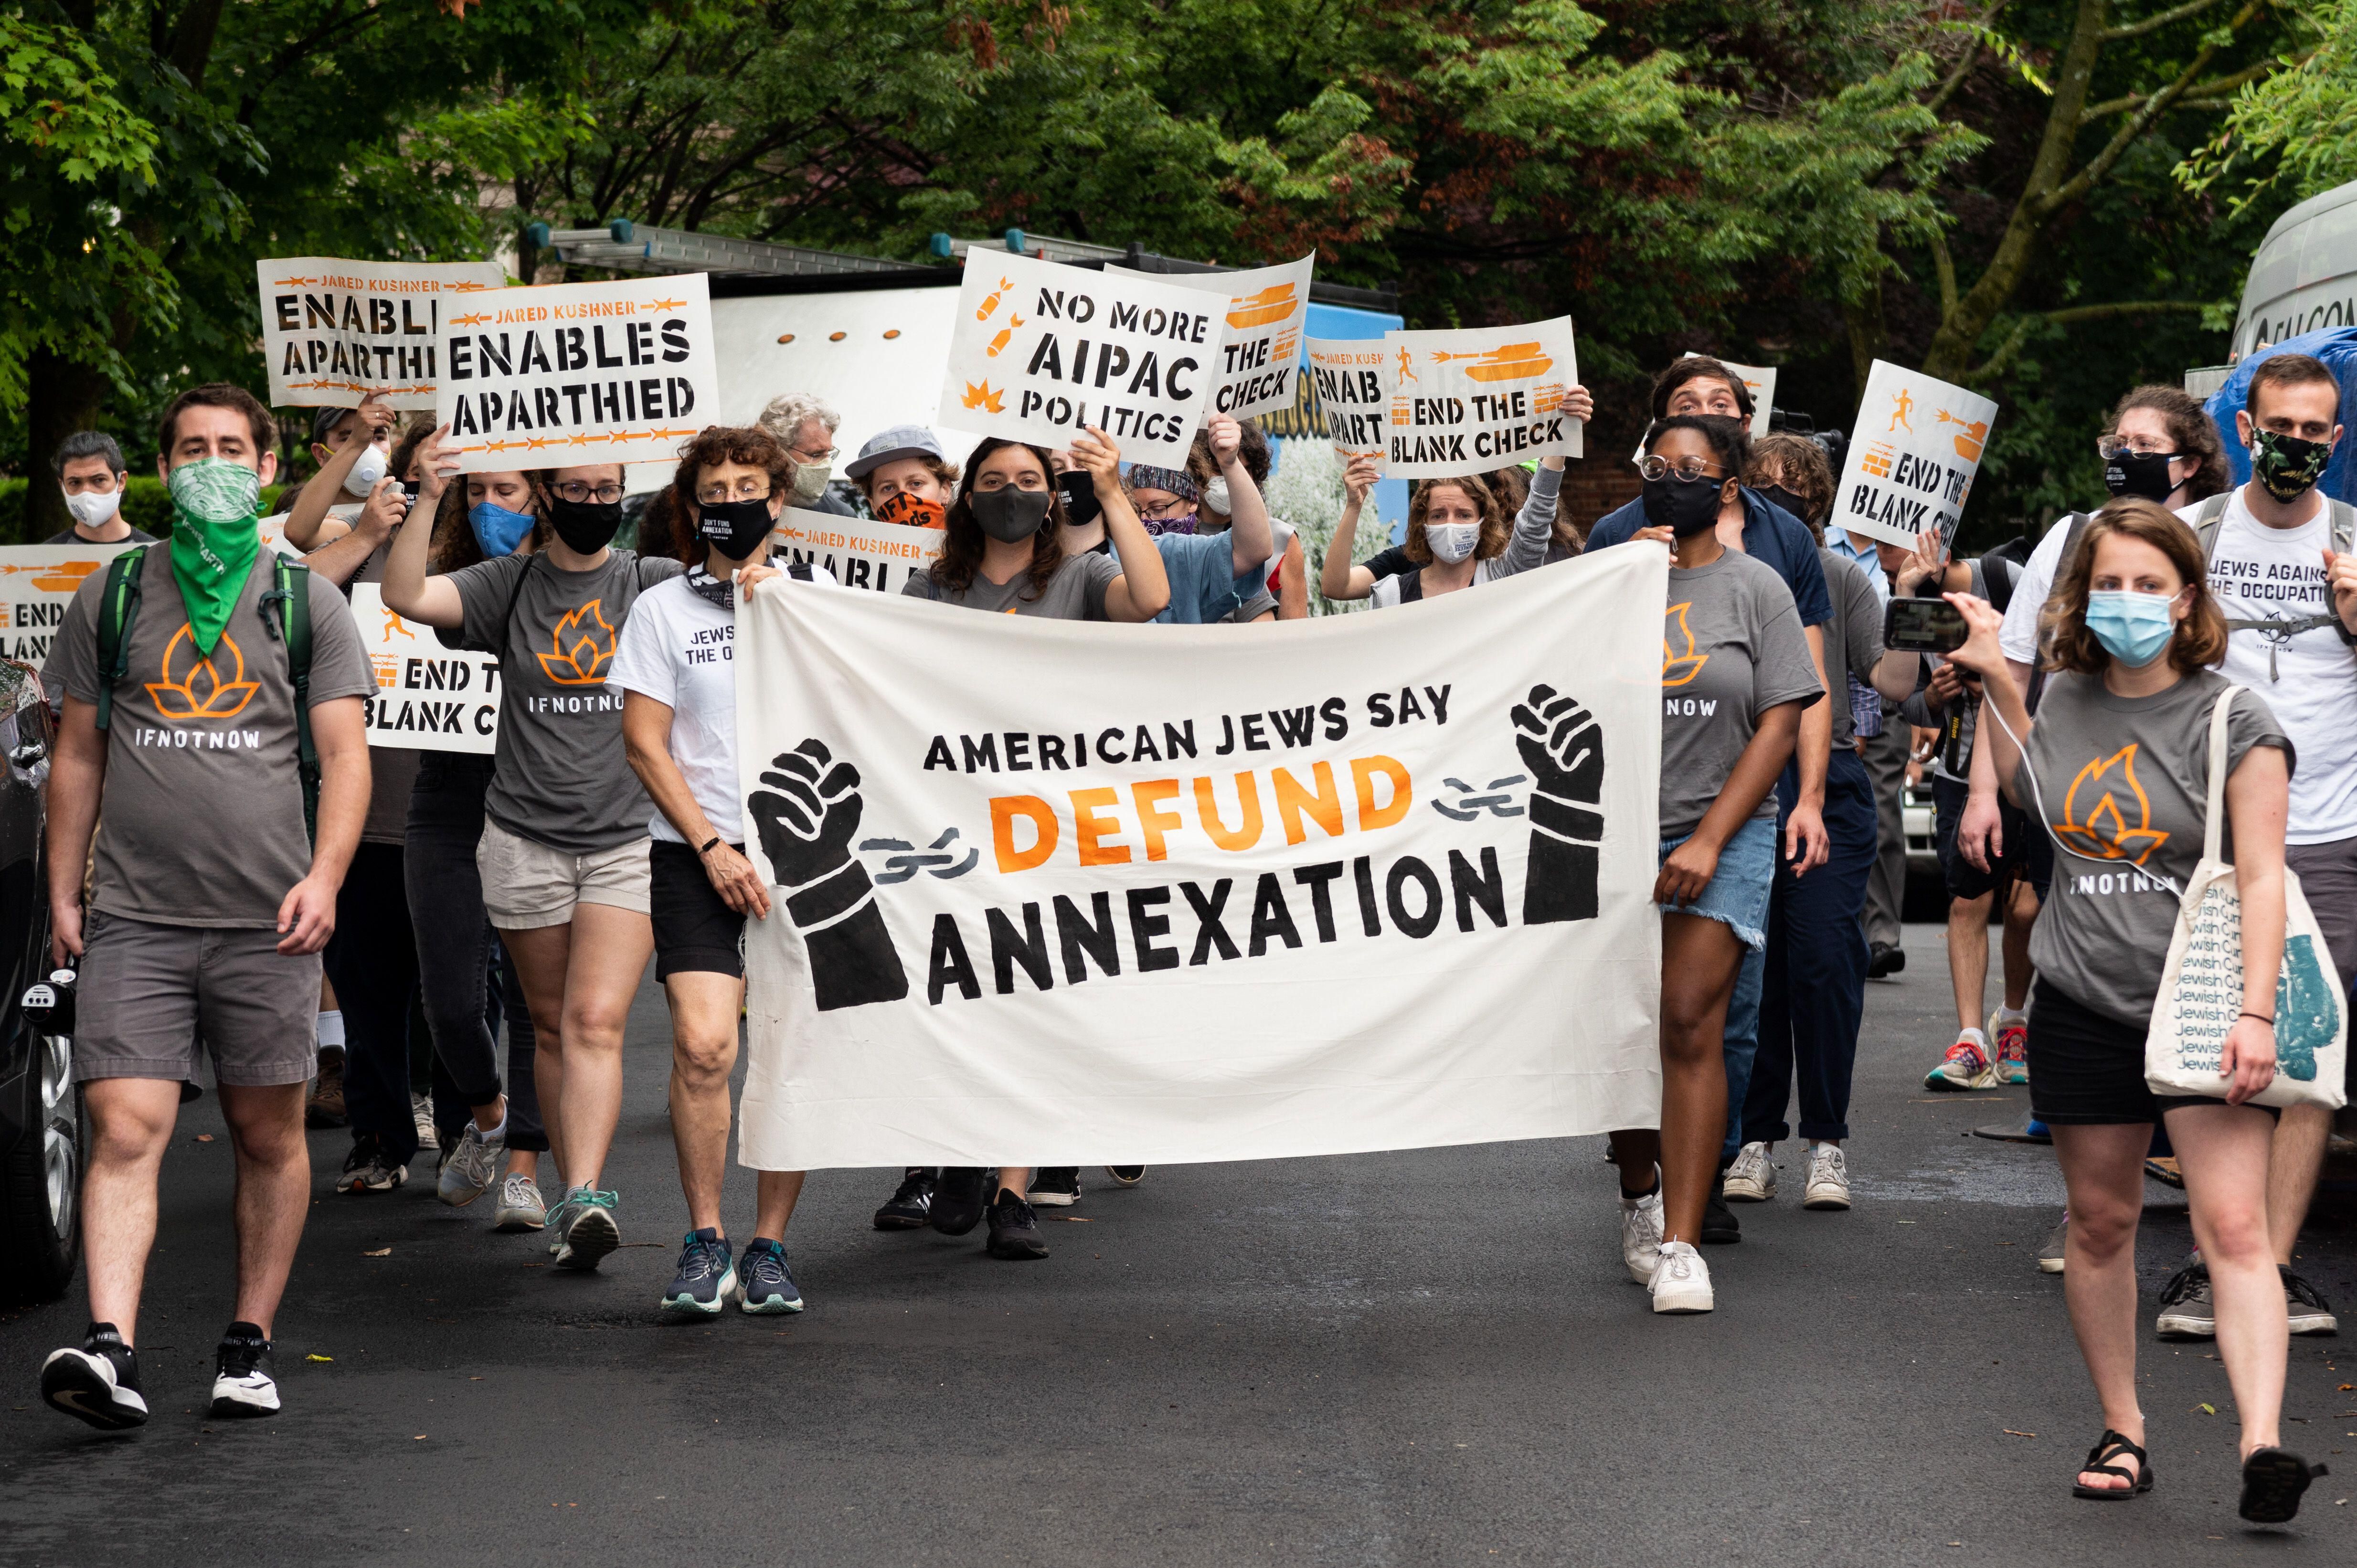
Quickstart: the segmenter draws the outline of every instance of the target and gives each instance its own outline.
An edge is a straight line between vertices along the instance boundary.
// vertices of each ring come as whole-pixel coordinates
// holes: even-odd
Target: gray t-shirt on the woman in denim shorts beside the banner
[[[1702,825],[1758,717],[1824,696],[1801,613],[1772,566],[1730,549],[1669,573],[1662,620],[1662,837]],[[1751,816],[1775,821],[1775,790]]]

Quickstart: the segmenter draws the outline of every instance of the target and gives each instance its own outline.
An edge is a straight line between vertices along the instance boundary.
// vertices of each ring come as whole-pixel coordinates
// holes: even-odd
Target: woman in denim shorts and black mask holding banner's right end
[[[1768,943],[1775,780],[1791,762],[1801,710],[1824,696],[1782,578],[1718,538],[1718,514],[1739,490],[1742,436],[1735,420],[1676,415],[1652,427],[1638,465],[1645,521],[1671,533],[1655,882],[1662,1127],[1615,1132],[1612,1158],[1622,1261],[1662,1313],[1716,1304],[1695,1243],[1728,1129],[1728,1002],[1744,955]]]

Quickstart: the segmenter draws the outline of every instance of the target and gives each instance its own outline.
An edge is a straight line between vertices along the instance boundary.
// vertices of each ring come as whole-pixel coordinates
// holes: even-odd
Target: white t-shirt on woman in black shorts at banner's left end
[[[811,582],[834,587],[834,575],[813,566]],[[804,587],[780,575],[764,592],[785,585]],[[735,615],[688,587],[688,578],[658,582],[632,604],[606,670],[610,686],[672,710],[672,762],[688,780],[688,795],[712,818],[712,832],[731,844],[745,842],[735,773]],[[648,832],[667,844],[686,842],[660,809]]]

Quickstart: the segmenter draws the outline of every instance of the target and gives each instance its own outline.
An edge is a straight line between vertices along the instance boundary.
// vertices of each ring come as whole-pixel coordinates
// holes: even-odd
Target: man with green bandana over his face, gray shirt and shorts
[[[66,693],[49,773],[49,948],[80,969],[73,1070],[92,1125],[92,1323],[80,1349],[42,1363],[40,1391],[101,1429],[146,1422],[132,1346],[156,1177],[181,1085],[207,1052],[238,1160],[238,1309],[219,1344],[212,1415],[278,1410],[271,1318],[311,1205],[302,1096],[318,953],[368,816],[361,698],[375,679],[351,608],[309,592],[309,573],[283,606],[257,535],[259,486],[276,469],[269,410],[238,387],[198,387],[165,410],[158,453],[172,540],[137,559],[118,613],[101,611],[108,573],[82,582],[47,670]],[[304,696],[290,620],[309,625]],[[120,627],[113,670],[104,625]],[[318,750],[316,837],[297,700]]]

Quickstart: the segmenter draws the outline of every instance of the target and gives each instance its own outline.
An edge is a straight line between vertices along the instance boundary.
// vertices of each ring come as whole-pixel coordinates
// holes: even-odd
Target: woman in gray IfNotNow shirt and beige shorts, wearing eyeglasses
[[[420,469],[457,469],[445,441],[436,431],[424,443]],[[620,465],[528,481],[547,495],[542,549],[427,575],[431,526],[417,507],[394,535],[384,604],[500,655],[500,745],[476,863],[537,1037],[540,1111],[563,1181],[549,1252],[559,1269],[596,1269],[622,1245],[618,1195],[599,1177],[622,1111],[622,1023],[655,946],[648,799],[622,755],[622,698],[606,677],[632,604],[684,568],[613,549]],[[511,549],[540,519],[486,498],[469,521],[486,547]]]

